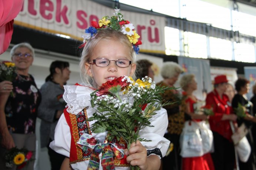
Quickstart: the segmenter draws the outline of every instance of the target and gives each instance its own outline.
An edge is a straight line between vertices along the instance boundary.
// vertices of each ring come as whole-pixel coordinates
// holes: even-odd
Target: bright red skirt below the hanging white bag
[[[182,170],[215,170],[212,156],[206,153],[199,157],[183,157]]]

